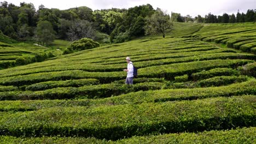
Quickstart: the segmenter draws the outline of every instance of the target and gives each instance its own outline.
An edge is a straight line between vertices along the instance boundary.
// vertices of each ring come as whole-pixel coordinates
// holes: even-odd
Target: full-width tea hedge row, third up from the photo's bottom
[[[154,84],[154,83],[153,83]],[[211,97],[231,97],[233,95],[256,95],[256,81],[249,80],[228,86],[193,88],[193,89],[165,89],[145,91],[119,95],[104,99],[80,100],[30,100],[30,101],[0,101],[0,111],[38,110],[55,106],[99,106],[152,103],[154,101],[193,100]],[[41,92],[42,93],[42,92]],[[5,93],[6,94],[6,93]],[[3,95],[3,93],[2,93]],[[13,97],[15,93],[10,94]]]

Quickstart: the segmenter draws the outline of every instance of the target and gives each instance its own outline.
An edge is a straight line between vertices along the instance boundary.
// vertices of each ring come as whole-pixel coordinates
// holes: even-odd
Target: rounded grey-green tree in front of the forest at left
[[[50,44],[55,39],[53,25],[49,21],[39,21],[37,24],[36,40],[38,44]]]

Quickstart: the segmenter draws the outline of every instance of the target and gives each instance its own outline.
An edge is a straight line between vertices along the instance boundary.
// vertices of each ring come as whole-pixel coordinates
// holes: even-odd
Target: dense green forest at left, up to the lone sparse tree
[[[32,3],[16,6],[4,1],[0,3],[0,30],[16,40],[36,40],[42,45],[55,38],[74,41],[85,37],[119,43],[144,35],[145,18],[155,11],[150,4],[95,11],[88,7],[59,10],[40,5],[36,10]]]

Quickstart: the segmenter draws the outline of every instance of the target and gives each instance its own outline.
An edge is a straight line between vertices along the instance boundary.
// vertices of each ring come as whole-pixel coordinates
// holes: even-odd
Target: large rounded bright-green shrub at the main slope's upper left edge
[[[87,50],[100,46],[96,41],[89,38],[82,38],[71,44],[73,50]]]

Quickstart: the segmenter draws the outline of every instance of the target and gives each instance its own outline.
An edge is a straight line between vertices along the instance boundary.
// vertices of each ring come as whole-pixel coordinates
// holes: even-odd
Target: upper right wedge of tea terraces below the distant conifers
[[[256,23],[211,24],[203,26],[192,37],[226,44],[228,47],[256,54]]]

